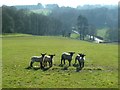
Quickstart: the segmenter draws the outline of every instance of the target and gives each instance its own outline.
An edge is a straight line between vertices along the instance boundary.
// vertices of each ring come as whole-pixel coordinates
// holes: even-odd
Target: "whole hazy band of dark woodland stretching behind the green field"
[[[70,36],[74,27],[79,32],[80,39],[84,40],[86,35],[96,36],[96,28],[109,27],[106,38],[112,41],[118,39],[116,34],[113,34],[117,32],[116,18],[115,15],[109,15],[110,10],[105,8],[78,10],[58,6],[47,8],[49,7],[52,12],[49,15],[43,15],[26,9],[17,9],[14,6],[2,6],[2,32]],[[106,10],[109,17],[105,16]],[[116,11],[113,12],[116,13]]]

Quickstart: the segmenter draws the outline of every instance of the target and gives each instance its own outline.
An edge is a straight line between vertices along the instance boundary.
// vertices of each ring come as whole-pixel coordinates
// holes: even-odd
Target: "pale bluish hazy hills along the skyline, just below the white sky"
[[[59,5],[57,4],[46,4],[45,6],[43,6],[41,3],[38,3],[37,5],[16,5],[15,6],[17,9],[28,9],[28,10],[37,10],[37,9],[56,9],[56,8],[60,8]],[[95,9],[95,8],[108,8],[108,9],[115,9],[118,6],[117,5],[79,5],[77,6],[76,9],[81,9],[81,10],[90,10],[90,9]],[[72,8],[72,7],[71,7]]]

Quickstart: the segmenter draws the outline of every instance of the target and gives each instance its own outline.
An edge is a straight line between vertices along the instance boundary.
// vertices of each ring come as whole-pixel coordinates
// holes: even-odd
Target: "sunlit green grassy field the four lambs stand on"
[[[118,88],[117,45],[53,36],[3,37],[2,45],[3,88]],[[65,51],[76,52],[72,64],[78,52],[86,54],[83,70],[62,70],[60,56]],[[26,69],[31,56],[45,52],[56,54],[53,67]]]

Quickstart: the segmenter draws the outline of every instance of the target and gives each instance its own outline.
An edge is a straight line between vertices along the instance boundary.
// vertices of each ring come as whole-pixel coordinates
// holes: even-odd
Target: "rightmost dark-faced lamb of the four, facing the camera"
[[[85,54],[78,53],[78,55],[75,57],[75,64],[76,64],[76,61],[78,60],[80,68],[84,67],[85,56],[86,56]]]

